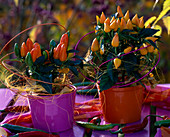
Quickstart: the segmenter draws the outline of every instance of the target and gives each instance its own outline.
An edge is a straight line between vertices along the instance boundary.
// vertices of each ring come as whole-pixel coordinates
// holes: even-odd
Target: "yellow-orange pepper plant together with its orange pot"
[[[160,37],[154,34],[159,30],[145,26],[137,14],[130,19],[129,10],[123,15],[120,6],[111,18],[102,12],[96,20],[85,59],[90,76],[98,81],[104,118],[122,124],[140,120],[144,87],[156,84]]]

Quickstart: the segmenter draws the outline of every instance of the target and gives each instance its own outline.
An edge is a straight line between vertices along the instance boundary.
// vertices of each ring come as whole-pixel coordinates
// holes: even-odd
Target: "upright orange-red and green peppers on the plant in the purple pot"
[[[50,42],[50,45],[56,46],[54,40]],[[59,59],[60,61],[67,60],[67,47],[68,47],[68,34],[65,33],[62,35],[60,39],[60,43],[52,48],[53,58]],[[25,63],[29,66],[32,66],[37,58],[41,56],[45,56],[45,59],[50,60],[49,51],[41,50],[41,46],[39,43],[33,43],[30,38],[27,39],[26,43],[23,42],[21,48],[19,48],[18,44],[15,43],[14,51],[17,58],[22,58],[25,60]]]

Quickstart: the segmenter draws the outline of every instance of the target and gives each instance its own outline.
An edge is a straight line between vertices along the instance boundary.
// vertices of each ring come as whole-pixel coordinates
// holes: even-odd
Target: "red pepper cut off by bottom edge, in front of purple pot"
[[[41,131],[22,132],[15,135],[16,137],[60,137],[59,135],[52,135]]]

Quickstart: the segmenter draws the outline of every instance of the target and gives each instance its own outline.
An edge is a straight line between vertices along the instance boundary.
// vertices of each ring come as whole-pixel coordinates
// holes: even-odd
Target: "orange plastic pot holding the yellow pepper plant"
[[[97,85],[99,89],[99,85]],[[109,123],[132,123],[141,119],[144,88],[110,88],[100,92],[101,108]]]

